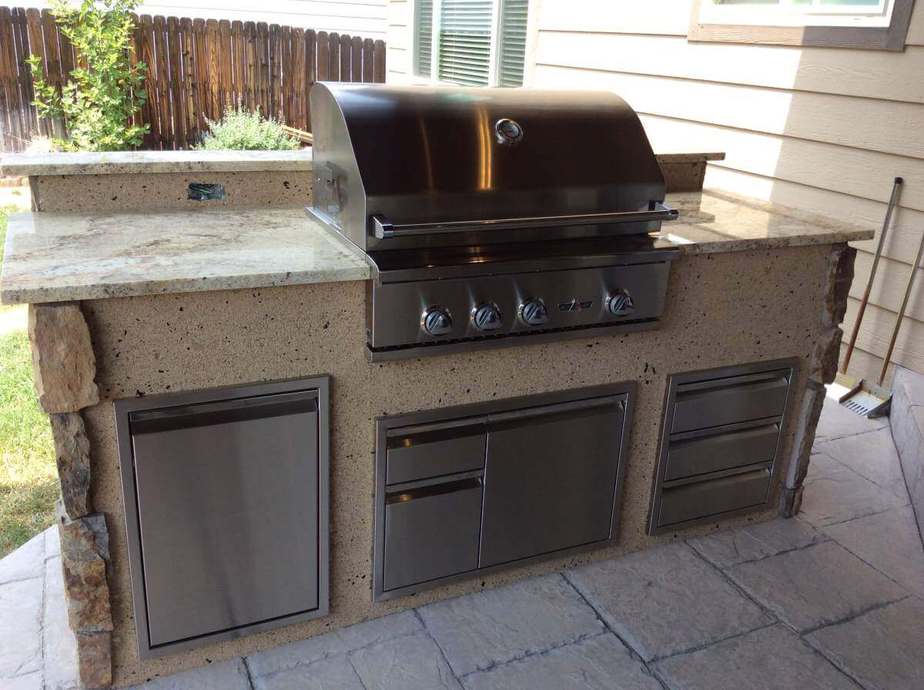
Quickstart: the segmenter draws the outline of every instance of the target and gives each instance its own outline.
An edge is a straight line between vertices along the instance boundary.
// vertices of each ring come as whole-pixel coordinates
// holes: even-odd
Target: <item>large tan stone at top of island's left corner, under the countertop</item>
[[[96,356],[80,305],[30,305],[29,340],[35,391],[45,412],[77,412],[99,402]]]

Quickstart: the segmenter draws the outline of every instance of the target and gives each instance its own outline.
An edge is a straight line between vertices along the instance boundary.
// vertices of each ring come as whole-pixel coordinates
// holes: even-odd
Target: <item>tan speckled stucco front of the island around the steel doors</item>
[[[646,536],[666,377],[673,372],[796,356],[795,401],[811,408],[822,350],[836,352],[829,295],[840,247],[684,256],[673,269],[660,330],[491,352],[371,364],[364,347],[362,282],[90,300],[81,305],[96,354],[100,402],[83,409],[92,449],[91,494],[109,527],[113,680],[128,685],[383,615],[670,540]],[[839,332],[838,332],[839,336]],[[536,362],[542,362],[538,369]],[[530,372],[523,376],[522,372]],[[141,662],[132,619],[112,400],[328,373],[332,376],[331,615],[311,623]],[[373,418],[606,382],[639,383],[614,548],[516,568],[373,604]],[[817,386],[817,384],[815,384]],[[811,426],[811,419],[803,420]],[[811,435],[811,434],[808,434]],[[799,462],[801,458],[795,460]],[[784,463],[783,474],[791,467]],[[779,487],[775,491],[779,492]],[[757,520],[768,515],[750,516]],[[709,525],[698,531],[709,531]]]

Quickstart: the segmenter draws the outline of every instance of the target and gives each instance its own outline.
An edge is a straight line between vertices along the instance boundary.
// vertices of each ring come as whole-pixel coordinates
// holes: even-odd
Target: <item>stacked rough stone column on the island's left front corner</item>
[[[55,443],[61,499],[58,534],[68,623],[77,638],[80,682],[112,684],[112,614],[109,608],[109,533],[93,514],[90,442],[80,410],[99,402],[96,357],[80,305],[29,308],[35,389]]]

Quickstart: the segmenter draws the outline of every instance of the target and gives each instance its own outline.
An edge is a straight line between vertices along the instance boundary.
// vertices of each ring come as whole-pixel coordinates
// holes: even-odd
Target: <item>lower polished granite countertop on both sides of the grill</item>
[[[680,218],[665,223],[659,238],[689,254],[852,242],[875,234],[716,191],[668,195],[667,203]],[[301,208],[23,213],[10,217],[0,301],[262,288],[370,275],[362,252]]]

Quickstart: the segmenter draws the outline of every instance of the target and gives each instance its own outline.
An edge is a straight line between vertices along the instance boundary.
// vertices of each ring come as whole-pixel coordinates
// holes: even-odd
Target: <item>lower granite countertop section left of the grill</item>
[[[7,229],[0,302],[366,280],[364,254],[305,210],[20,213]]]

